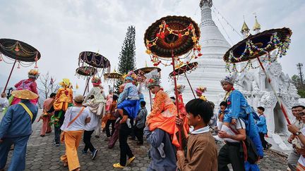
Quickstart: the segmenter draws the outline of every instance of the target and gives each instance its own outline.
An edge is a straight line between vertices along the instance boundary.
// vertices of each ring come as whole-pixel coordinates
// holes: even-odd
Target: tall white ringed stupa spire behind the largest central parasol
[[[219,95],[224,92],[220,86],[220,80],[229,75],[229,72],[226,72],[225,62],[222,57],[231,45],[223,37],[213,21],[212,5],[212,0],[201,0],[201,24],[199,27],[201,29],[200,44],[203,56],[196,59],[198,68],[187,76],[194,91],[199,86],[207,87],[205,96],[208,101],[213,101],[217,106],[220,99]],[[183,93],[184,102],[186,103],[193,99],[193,94],[186,78],[179,76],[178,83],[186,86]]]

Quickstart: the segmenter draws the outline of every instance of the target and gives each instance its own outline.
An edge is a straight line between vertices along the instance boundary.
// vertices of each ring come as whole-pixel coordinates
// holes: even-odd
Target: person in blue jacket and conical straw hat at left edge
[[[12,91],[11,94],[21,101],[8,108],[0,123],[0,170],[4,170],[12,144],[13,156],[8,171],[25,170],[26,147],[38,112],[30,100],[37,99],[38,95],[27,89]]]

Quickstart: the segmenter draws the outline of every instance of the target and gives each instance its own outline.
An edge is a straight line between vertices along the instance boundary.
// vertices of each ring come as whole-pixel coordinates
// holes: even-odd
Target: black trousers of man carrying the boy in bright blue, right
[[[231,163],[234,171],[244,171],[244,155],[240,149],[240,143],[222,146],[218,153],[218,170],[229,171],[227,165]]]

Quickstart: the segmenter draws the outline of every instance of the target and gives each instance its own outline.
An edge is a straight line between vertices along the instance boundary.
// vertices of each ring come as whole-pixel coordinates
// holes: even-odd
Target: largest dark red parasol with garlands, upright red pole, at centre
[[[160,63],[166,66],[172,65],[174,71],[174,66],[178,63],[184,63],[183,60],[188,56],[191,55],[189,61],[202,56],[200,52],[201,46],[198,44],[199,37],[199,27],[191,18],[186,16],[167,16],[160,18],[160,20],[148,27],[144,35],[144,44],[147,49],[146,53],[150,55],[154,66]],[[186,57],[181,57],[186,53],[188,53]],[[167,64],[164,61],[172,62]],[[176,106],[178,117],[180,117],[176,72],[173,73],[173,78]],[[181,129],[179,129],[179,144],[181,144]]]

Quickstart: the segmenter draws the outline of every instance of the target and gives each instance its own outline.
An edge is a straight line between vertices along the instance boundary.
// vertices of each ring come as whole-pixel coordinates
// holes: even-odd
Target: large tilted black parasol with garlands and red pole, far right
[[[286,55],[287,49],[290,44],[290,37],[292,35],[292,31],[289,28],[281,28],[281,29],[272,29],[265,30],[264,32],[251,35],[241,42],[232,46],[224,56],[224,61],[227,63],[227,70],[229,72],[243,72],[247,68],[258,68],[259,66],[254,67],[252,64],[253,59],[257,59],[260,64],[263,72],[265,73],[265,77],[267,78],[277,101],[280,103],[280,107],[282,112],[285,115],[287,123],[290,125],[290,121],[287,115],[287,111],[282,104],[282,101],[277,96],[275,88],[273,84],[271,84],[272,80],[268,76],[268,73],[265,71],[263,61],[268,61],[269,63],[273,62],[277,57],[282,57]],[[271,56],[270,52],[275,51],[275,56]],[[245,62],[244,68],[241,70],[237,70],[236,63]],[[232,68],[230,67],[231,65]]]

